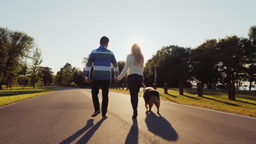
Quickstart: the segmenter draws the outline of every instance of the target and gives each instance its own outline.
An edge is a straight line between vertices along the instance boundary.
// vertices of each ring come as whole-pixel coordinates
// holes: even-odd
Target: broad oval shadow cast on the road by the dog
[[[145,122],[148,130],[155,135],[162,137],[162,139],[168,141],[176,141],[178,134],[173,129],[172,125],[158,113],[157,116],[154,112],[146,111]]]

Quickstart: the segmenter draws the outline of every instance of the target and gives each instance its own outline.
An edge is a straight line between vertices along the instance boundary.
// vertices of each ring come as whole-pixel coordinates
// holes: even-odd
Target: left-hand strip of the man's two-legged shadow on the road
[[[62,142],[60,142],[60,144],[67,144],[67,143],[71,143],[72,141],[74,141],[75,139],[77,139],[77,137],[79,137],[80,135],[82,135],[84,133],[84,131],[88,130],[89,128],[92,127],[92,125],[94,125],[94,119],[89,119],[86,123],[86,125],[84,126],[84,128],[78,130],[76,133],[74,133],[73,135],[69,136],[66,140],[63,140]]]

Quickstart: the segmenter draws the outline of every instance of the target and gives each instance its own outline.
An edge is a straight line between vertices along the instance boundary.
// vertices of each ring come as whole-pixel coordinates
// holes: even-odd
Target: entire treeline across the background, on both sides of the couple
[[[27,60],[32,61],[31,65]],[[83,58],[85,65],[88,57]],[[0,27],[0,88],[2,85],[57,85],[64,87],[84,87],[84,70],[66,63],[56,75],[49,67],[42,67],[40,49],[34,38],[24,32],[11,31]],[[119,61],[119,71],[125,62]],[[226,88],[228,82],[239,89],[249,82],[249,89],[256,81],[256,26],[249,29],[248,37],[231,35],[222,39],[210,39],[191,49],[177,45],[164,46],[150,58],[144,68],[144,83],[152,86],[154,75],[156,84],[162,87],[178,87],[183,83],[191,87],[197,82],[207,88]],[[91,71],[93,70],[93,67]],[[112,69],[112,84],[114,74]],[[92,73],[90,75],[92,78]],[[126,83],[126,76],[120,81]]]

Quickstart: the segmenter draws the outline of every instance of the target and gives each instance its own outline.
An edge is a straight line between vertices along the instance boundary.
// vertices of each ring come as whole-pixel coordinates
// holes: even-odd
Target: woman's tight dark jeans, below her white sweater
[[[143,82],[143,76],[137,74],[131,74],[127,76],[127,85],[129,87],[130,95],[131,95],[131,104],[133,113],[137,113],[138,107],[138,92],[139,88],[141,88]]]

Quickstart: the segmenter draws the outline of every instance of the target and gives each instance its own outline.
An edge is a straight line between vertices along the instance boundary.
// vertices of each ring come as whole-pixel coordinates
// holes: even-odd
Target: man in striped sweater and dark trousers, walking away
[[[107,49],[109,39],[102,37],[100,40],[100,47],[91,51],[88,62],[85,67],[85,82],[89,82],[90,70],[92,63],[94,63],[94,72],[92,75],[92,101],[94,102],[95,112],[91,115],[96,117],[102,112],[102,118],[108,118],[108,89],[111,80],[111,63],[113,64],[115,77],[118,76],[118,64],[115,60],[114,53]],[[100,112],[100,103],[98,101],[98,92],[102,89],[102,106]]]

